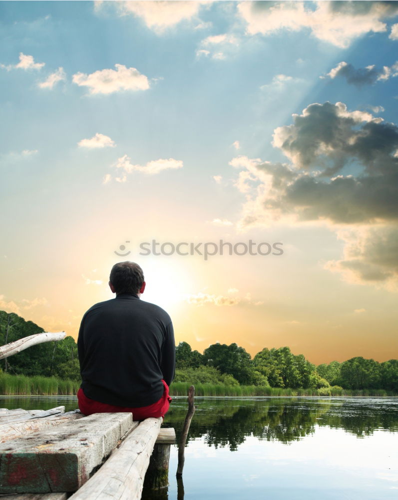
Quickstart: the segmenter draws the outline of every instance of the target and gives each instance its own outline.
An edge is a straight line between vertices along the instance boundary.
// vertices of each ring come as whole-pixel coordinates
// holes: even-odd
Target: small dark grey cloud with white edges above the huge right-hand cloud
[[[398,61],[391,67],[383,66],[383,69],[378,69],[374,64],[356,69],[352,64],[342,61],[331,69],[326,76],[332,79],[336,78],[336,76],[342,76],[346,78],[348,83],[353,83],[360,87],[362,85],[376,83],[379,80],[385,81],[390,77],[398,76]]]

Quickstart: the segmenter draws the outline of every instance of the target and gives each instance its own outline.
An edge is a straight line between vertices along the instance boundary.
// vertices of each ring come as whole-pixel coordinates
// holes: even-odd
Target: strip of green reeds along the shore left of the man
[[[56,377],[24,376],[0,373],[0,394],[5,395],[56,395],[76,394],[80,382]]]

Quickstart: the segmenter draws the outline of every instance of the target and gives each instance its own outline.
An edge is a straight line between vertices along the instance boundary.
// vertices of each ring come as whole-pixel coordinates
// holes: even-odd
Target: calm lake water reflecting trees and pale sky
[[[0,396],[0,407],[77,407],[73,396]],[[195,400],[177,485],[143,499],[391,500],[398,498],[398,398],[266,397]],[[186,398],[164,425],[181,432]]]

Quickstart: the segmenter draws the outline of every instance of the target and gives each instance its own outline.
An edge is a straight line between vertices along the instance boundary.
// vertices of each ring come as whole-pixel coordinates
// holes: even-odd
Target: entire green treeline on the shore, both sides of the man
[[[43,328],[32,321],[25,321],[12,312],[0,311],[0,344],[42,331]],[[34,345],[0,360],[0,371],[9,375],[79,381],[76,342],[73,337],[67,336],[57,342]],[[185,382],[207,384],[207,387],[229,387],[231,394],[242,390],[258,392],[255,388],[243,389],[249,386],[262,387],[263,392],[266,392],[265,387],[275,388],[268,391],[270,393],[277,392],[276,389],[294,389],[295,393],[301,393],[305,389],[306,393],[316,390],[318,394],[330,395],[342,393],[341,388],[345,391],[385,390],[398,393],[398,360],[379,363],[357,356],[341,363],[332,361],[316,366],[303,354],[293,354],[289,347],[265,347],[252,359],[236,343],[215,343],[201,354],[192,350],[187,342],[180,342],[176,347],[174,381],[176,390],[177,383]],[[235,389],[232,390],[233,387]]]

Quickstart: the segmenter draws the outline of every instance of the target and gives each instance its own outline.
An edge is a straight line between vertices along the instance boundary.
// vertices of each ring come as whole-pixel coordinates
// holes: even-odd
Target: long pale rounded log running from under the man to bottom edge
[[[162,418],[146,418],[69,500],[139,500]]]

